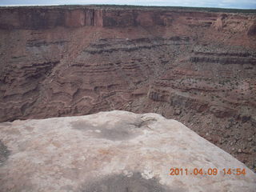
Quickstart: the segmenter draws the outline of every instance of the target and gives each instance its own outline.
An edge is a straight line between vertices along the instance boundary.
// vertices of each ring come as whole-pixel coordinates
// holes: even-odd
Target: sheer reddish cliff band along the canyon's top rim
[[[226,18],[232,22],[248,19],[248,33],[255,34],[254,14],[225,14],[192,10],[161,9],[115,9],[81,6],[72,7],[0,7],[0,29],[2,30],[44,30],[57,26],[82,27],[125,27],[125,26],[171,26],[181,20],[190,26],[211,26],[218,30],[225,26]],[[203,18],[203,19],[202,19]],[[185,24],[184,23],[184,24]],[[245,29],[242,29],[245,30]]]

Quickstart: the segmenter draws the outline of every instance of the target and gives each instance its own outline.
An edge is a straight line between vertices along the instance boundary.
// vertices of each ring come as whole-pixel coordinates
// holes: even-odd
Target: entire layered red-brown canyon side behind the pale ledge
[[[0,121],[154,112],[256,169],[256,15],[0,8]]]

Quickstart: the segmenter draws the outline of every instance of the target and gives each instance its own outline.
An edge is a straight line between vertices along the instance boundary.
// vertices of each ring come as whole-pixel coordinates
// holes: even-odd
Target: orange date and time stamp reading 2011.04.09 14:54
[[[187,169],[187,168],[170,168],[170,176],[178,176],[178,175],[208,175],[208,176],[216,176],[218,174],[222,175],[246,175],[245,168],[224,168],[224,169],[217,169],[217,168],[194,168],[194,169]]]

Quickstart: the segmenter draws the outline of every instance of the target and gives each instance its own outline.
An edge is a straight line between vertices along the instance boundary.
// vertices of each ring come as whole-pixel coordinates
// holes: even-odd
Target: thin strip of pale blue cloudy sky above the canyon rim
[[[78,4],[198,6],[235,9],[256,9],[256,0],[0,0],[0,6],[45,6]]]

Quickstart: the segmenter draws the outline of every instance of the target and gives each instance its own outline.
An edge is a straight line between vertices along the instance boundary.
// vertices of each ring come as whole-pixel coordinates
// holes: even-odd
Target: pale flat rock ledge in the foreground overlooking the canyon
[[[256,174],[242,162],[159,114],[111,111],[3,122],[0,140],[1,191],[256,189]],[[179,169],[177,175],[171,168]],[[212,169],[218,173],[210,175]]]

